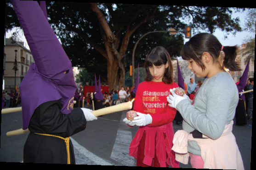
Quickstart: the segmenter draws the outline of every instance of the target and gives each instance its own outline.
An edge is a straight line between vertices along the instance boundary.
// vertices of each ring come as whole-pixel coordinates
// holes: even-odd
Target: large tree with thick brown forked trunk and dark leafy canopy
[[[46,5],[49,22],[74,66],[85,67],[90,72],[91,69],[100,70],[102,78],[107,74],[110,89],[123,85],[125,65],[129,67],[126,62],[131,61],[131,47],[143,34],[169,28],[183,30],[184,20],[188,18],[191,19],[188,25],[194,31],[203,29],[214,33],[216,28],[220,28],[226,34],[235,34],[241,31],[241,27],[239,18],[231,18],[231,9],[245,9],[59,1],[47,2]],[[155,39],[151,42],[152,36]],[[179,36],[181,34],[175,38],[180,40]],[[173,38],[168,33],[150,37],[145,37],[137,46],[136,54],[138,52],[139,55],[136,55],[136,62],[143,62],[147,53],[145,46],[152,48],[164,40],[169,43]],[[165,44],[174,57],[181,46],[174,50]]]

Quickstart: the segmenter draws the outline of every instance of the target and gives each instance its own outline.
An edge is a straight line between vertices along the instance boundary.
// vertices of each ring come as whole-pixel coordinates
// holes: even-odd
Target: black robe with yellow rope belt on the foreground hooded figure
[[[60,101],[51,101],[41,104],[32,115],[28,129],[30,133],[24,145],[24,163],[67,164],[67,148],[63,138],[72,136],[85,130],[86,119],[80,108],[69,114],[61,113]],[[69,141],[70,163],[75,164],[74,147]]]

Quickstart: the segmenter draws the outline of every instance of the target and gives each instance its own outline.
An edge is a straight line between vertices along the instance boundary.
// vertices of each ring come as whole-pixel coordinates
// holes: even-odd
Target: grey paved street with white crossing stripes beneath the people
[[[87,106],[86,106],[87,107]],[[89,106],[91,108],[91,106]],[[136,160],[129,156],[129,145],[138,127],[130,128],[122,120],[126,112],[116,112],[87,122],[86,129],[71,137],[74,145],[76,164],[135,166]],[[252,120],[248,125],[234,123],[233,134],[245,165],[250,170]],[[173,125],[174,130],[182,126]],[[1,115],[0,162],[23,162],[23,145],[28,134],[7,137],[6,132],[22,128],[22,114]],[[191,168],[190,164],[180,164],[181,168]]]

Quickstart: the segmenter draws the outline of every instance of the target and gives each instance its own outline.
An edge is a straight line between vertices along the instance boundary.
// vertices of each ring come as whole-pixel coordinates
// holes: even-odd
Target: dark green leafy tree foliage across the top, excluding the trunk
[[[5,19],[10,22],[5,23],[5,31],[7,28],[19,25],[10,3],[7,2],[6,0]],[[239,25],[239,18],[231,18],[232,11],[245,10],[245,8],[209,6],[97,4],[105,16],[109,28],[115,34],[114,45],[117,51],[124,47],[123,39],[125,34],[129,34],[129,43],[125,44],[127,50],[121,60],[125,65],[125,71],[129,70],[131,64],[133,47],[143,34],[157,30],[169,30],[169,28],[184,30],[185,25],[192,26],[194,32],[204,30],[204,32],[214,33],[216,28],[219,28],[226,34],[235,34],[242,29]],[[46,1],[46,6],[48,18],[50,18],[49,23],[61,40],[73,66],[86,68],[86,70],[90,70],[90,73],[101,74],[101,77],[108,81],[109,61],[116,60],[116,58],[102,57],[103,53],[107,54],[112,51],[107,51],[108,49],[105,48],[105,32],[95,12],[92,11],[91,4]],[[159,45],[164,46],[170,52],[171,57],[175,59],[181,51],[183,37],[183,34],[174,36],[169,33],[147,35],[137,46],[135,63],[142,64],[149,49]]]

